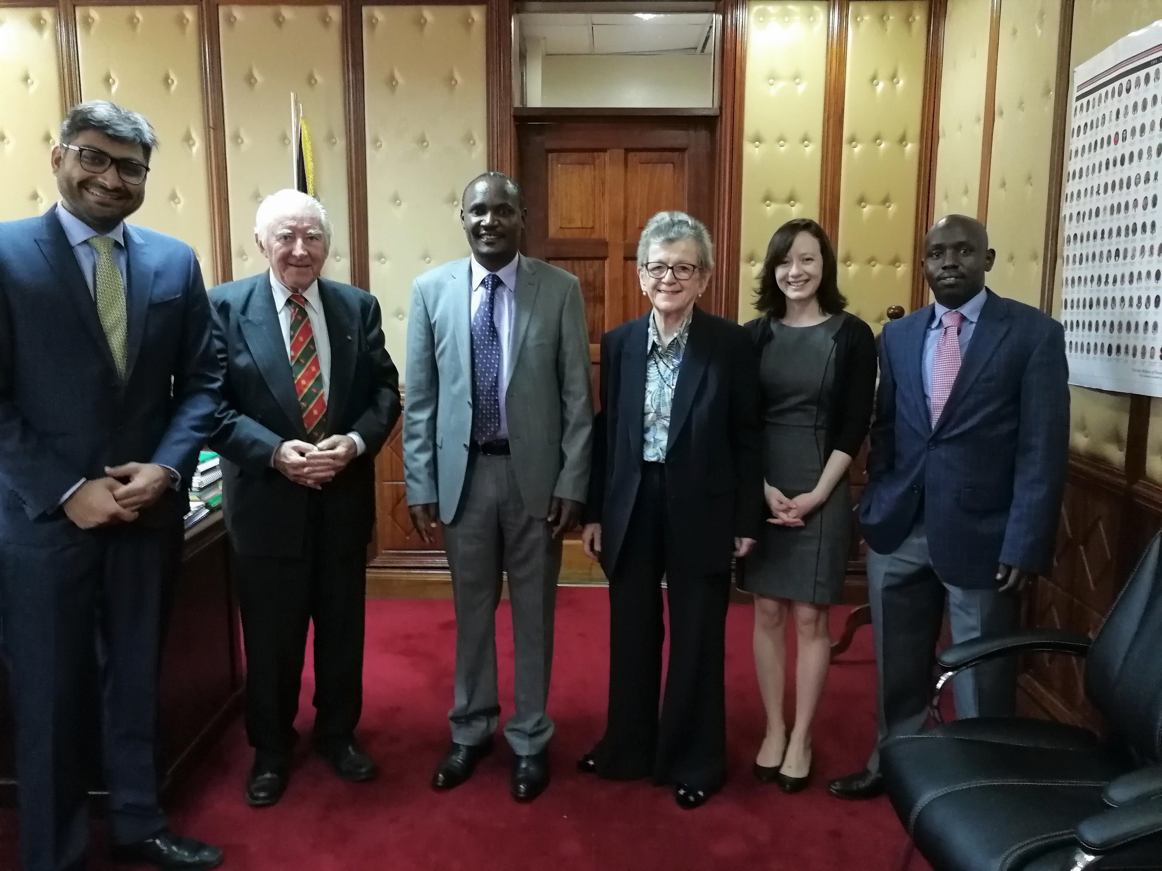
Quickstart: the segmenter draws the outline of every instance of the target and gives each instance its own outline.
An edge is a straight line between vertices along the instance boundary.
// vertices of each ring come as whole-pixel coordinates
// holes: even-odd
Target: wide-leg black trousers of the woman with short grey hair
[[[690,574],[669,559],[667,502],[665,465],[644,463],[609,578],[609,719],[594,760],[597,773],[610,779],[652,776],[657,784],[713,792],[726,779],[730,573]],[[664,575],[670,640],[659,717]]]

